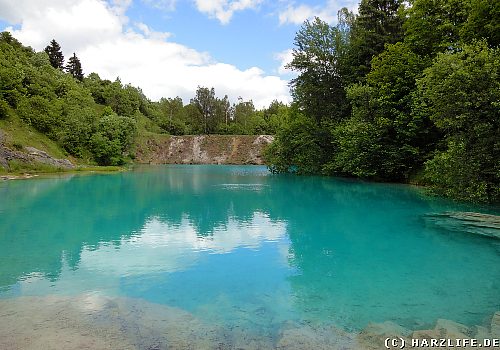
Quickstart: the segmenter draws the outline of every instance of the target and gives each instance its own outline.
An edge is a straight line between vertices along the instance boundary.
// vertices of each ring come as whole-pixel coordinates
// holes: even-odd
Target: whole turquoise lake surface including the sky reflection
[[[16,301],[42,312],[44,300],[92,298],[274,345],[292,324],[485,325],[500,310],[500,241],[426,219],[450,211],[500,213],[411,186],[259,166],[0,182],[0,300],[10,305],[2,314],[0,304],[0,329],[2,315],[21,319]]]

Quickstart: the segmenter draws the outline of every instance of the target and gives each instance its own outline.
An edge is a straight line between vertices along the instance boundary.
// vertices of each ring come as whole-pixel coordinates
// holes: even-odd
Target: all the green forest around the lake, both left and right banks
[[[198,87],[149,100],[139,88],[84,75],[56,40],[42,52],[0,34],[0,121],[18,118],[68,154],[100,165],[133,158],[154,134],[275,134],[276,173],[429,185],[500,201],[500,2],[362,0],[336,25],[297,32],[290,106],[217,97]],[[83,62],[84,66],[84,62]]]

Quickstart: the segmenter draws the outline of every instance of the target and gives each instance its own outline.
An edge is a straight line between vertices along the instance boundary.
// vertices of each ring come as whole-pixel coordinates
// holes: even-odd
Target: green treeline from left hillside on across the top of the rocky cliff
[[[65,63],[55,40],[35,52],[0,34],[0,119],[20,118],[87,162],[123,164],[148,133],[275,133],[288,109],[277,101],[262,110],[241,98],[231,104],[205,87],[187,105],[179,97],[150,101],[119,78],[85,77],[76,54]]]

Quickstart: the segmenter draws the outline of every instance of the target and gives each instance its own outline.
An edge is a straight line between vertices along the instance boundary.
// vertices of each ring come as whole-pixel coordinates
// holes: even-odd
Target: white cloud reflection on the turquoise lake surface
[[[260,212],[247,221],[229,218],[210,236],[199,235],[187,218],[180,225],[171,225],[150,218],[144,227],[115,246],[102,243],[97,249],[84,248],[79,268],[100,273],[134,275],[140,273],[173,272],[193,265],[199,253],[229,253],[237,248],[256,249],[263,242],[284,237],[284,222],[271,221]]]

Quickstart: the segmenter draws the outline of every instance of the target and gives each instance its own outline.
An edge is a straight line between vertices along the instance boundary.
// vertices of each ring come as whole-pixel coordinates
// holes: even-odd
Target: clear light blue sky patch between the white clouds
[[[170,40],[199,51],[217,61],[240,69],[253,66],[276,73],[275,54],[292,47],[296,24],[280,25],[275,5],[262,4],[253,10],[236,12],[227,24],[196,10],[193,3],[178,2],[174,11],[161,11],[137,1],[127,11],[132,21],[149,24],[153,29],[172,33]]]

